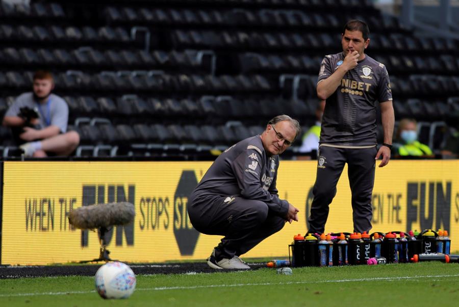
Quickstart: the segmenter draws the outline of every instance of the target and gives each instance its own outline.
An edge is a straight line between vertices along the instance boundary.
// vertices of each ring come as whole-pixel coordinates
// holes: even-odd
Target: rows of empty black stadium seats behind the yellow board
[[[320,62],[353,18],[387,66],[396,120],[421,122],[436,151],[459,121],[459,42],[417,37],[369,0],[2,1],[0,18],[0,114],[34,70],[52,70],[79,157],[209,158],[278,114],[312,125]]]

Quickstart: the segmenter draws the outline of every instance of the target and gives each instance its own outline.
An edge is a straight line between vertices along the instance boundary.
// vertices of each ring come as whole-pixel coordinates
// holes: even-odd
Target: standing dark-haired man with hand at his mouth
[[[329,204],[344,164],[352,193],[354,232],[371,229],[371,194],[375,160],[379,167],[391,157],[394,131],[392,92],[384,64],[370,58],[365,49],[370,43],[365,22],[350,20],[342,33],[343,52],[326,55],[317,83],[317,96],[326,99],[322,118],[317,177],[309,217],[310,233],[323,233]],[[381,109],[384,143],[376,149],[376,101]]]

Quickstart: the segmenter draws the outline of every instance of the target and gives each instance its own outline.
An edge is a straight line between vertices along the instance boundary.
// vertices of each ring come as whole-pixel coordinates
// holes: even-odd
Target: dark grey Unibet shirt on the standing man
[[[326,55],[318,82],[333,74],[343,61],[343,52]],[[386,67],[366,55],[344,75],[335,93],[327,98],[319,143],[376,145],[375,102],[389,100],[392,100],[392,92]]]

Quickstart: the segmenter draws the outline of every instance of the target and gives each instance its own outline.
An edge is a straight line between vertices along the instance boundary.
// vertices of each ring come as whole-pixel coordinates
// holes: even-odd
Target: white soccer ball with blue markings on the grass
[[[136,289],[136,275],[122,262],[108,262],[97,270],[95,286],[103,298],[128,298]]]

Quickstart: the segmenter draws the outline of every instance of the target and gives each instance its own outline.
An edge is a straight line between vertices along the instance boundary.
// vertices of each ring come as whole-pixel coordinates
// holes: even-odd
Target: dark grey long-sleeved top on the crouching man
[[[279,157],[266,154],[260,135],[246,138],[217,157],[191,199],[197,203],[209,196],[239,196],[265,202],[269,210],[284,217],[289,203],[277,195],[278,167]]]

